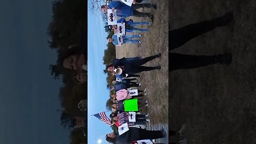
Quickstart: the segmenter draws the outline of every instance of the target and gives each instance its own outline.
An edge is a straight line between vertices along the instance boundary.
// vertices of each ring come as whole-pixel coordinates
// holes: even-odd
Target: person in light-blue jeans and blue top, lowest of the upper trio
[[[132,38],[138,38],[138,37],[141,37],[141,35],[124,35],[123,36],[123,43],[121,43],[121,45],[123,44],[137,44],[137,43],[141,43],[140,40],[138,39],[132,39]],[[114,45],[116,46],[120,46],[118,44],[118,38],[117,38],[117,35],[113,35],[112,38],[108,38],[108,42],[109,43],[113,43]]]

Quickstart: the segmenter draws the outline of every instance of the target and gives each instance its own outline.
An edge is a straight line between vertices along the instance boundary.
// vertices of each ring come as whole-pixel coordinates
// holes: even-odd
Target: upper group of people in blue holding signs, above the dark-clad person
[[[117,16],[121,17],[121,19],[117,20],[117,23],[125,23],[125,33],[131,33],[135,31],[140,31],[140,32],[147,32],[150,33],[149,29],[140,29],[140,28],[135,28],[135,26],[138,25],[151,25],[151,22],[149,21],[143,21],[143,22],[133,22],[132,19],[126,21],[126,17],[146,17],[150,18],[151,21],[154,21],[154,15],[151,13],[146,13],[146,12],[139,12],[137,9],[147,7],[147,8],[153,8],[157,9],[157,6],[155,4],[149,4],[149,3],[141,3],[142,1],[133,1],[132,6],[128,6],[122,2],[119,1],[112,1],[108,5],[102,5],[101,6],[101,11],[103,13],[107,13],[108,9],[111,9],[113,12],[117,10]],[[118,28],[116,25],[111,26],[116,32],[118,31]],[[123,45],[123,44],[128,44],[128,43],[141,43],[139,39],[133,39],[133,38],[140,38],[142,35],[127,35],[125,34],[123,36],[123,42],[118,43],[118,37],[117,34],[113,35],[112,38],[108,38],[108,42],[112,42],[114,45]]]

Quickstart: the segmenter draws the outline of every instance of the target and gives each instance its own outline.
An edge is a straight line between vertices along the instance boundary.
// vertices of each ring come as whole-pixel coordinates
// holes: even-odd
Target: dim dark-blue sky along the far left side
[[[48,69],[57,59],[47,45],[51,2],[0,1],[0,143],[69,143],[57,111],[62,83]]]

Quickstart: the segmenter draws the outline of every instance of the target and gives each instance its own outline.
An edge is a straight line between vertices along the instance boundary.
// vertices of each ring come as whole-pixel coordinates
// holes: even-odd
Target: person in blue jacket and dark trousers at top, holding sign
[[[103,13],[107,13],[108,9],[111,9],[112,11],[116,11],[116,14],[118,17],[126,18],[126,17],[147,17],[150,18],[152,21],[154,20],[154,15],[151,13],[147,12],[139,12],[136,9],[140,8],[154,8],[156,9],[155,4],[149,4],[149,3],[144,3],[144,4],[135,4],[132,6],[126,5],[122,2],[119,1],[111,1],[108,5],[102,5],[101,6],[101,11]]]

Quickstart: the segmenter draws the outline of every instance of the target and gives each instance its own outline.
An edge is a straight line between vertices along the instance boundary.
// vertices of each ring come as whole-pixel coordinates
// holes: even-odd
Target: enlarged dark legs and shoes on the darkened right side
[[[171,51],[186,44],[188,41],[190,41],[190,39],[207,33],[217,27],[227,26],[233,21],[233,12],[228,12],[222,17],[193,23],[179,29],[170,30],[169,25],[169,71],[178,69],[193,69],[212,65],[214,63],[231,63],[231,53],[218,55],[186,55],[172,53]]]

